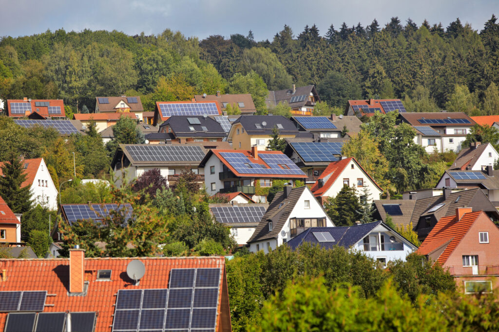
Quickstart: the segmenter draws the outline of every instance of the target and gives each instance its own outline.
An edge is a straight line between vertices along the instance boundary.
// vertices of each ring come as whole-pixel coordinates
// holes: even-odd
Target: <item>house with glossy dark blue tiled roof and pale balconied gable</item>
[[[308,242],[331,249],[335,245],[364,253],[383,267],[390,261],[405,260],[417,246],[382,221],[343,227],[311,227],[287,242],[293,250]]]

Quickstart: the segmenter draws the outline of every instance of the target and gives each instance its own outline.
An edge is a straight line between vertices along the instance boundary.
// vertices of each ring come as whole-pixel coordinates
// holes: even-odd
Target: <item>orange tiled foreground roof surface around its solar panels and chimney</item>
[[[126,275],[128,264],[137,258],[84,258],[84,280],[88,282],[86,295],[68,294],[68,258],[2,259],[5,270],[2,291],[46,291],[43,312],[96,312],[94,331],[111,331],[119,290],[168,289],[173,269],[221,269],[215,331],[231,331],[225,257],[141,257],[145,275],[137,285]],[[73,259],[73,262],[75,260]],[[97,281],[98,270],[111,270],[109,281]],[[4,331],[7,313],[0,313],[0,330]],[[75,331],[77,329],[73,329]]]

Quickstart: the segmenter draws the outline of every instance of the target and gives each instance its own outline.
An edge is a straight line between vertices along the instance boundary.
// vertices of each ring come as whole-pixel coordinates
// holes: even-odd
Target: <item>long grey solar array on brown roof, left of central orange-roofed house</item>
[[[127,145],[134,161],[192,161],[201,162],[205,152],[197,145]]]

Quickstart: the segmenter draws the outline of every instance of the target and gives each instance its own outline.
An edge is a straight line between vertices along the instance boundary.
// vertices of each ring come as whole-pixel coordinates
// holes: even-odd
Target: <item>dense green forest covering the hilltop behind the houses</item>
[[[314,84],[330,106],[347,99],[401,98],[408,111],[499,113],[499,23],[480,30],[459,18],[447,27],[393,17],[322,35],[315,25],[274,38],[233,34],[199,41],[181,32],[128,36],[118,31],[46,31],[0,41],[0,97],[64,99],[93,111],[95,96],[188,100],[195,93],[251,93],[264,111],[266,89]],[[85,106],[85,107],[84,107]]]

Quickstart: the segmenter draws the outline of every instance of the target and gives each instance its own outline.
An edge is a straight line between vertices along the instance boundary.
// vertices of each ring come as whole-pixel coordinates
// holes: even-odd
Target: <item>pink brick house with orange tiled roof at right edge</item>
[[[499,228],[483,211],[458,208],[441,218],[417,253],[438,262],[466,294],[497,289]]]

